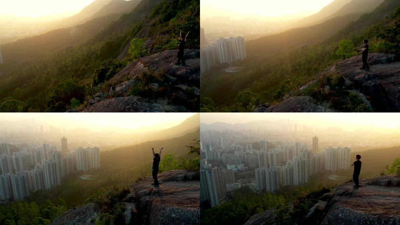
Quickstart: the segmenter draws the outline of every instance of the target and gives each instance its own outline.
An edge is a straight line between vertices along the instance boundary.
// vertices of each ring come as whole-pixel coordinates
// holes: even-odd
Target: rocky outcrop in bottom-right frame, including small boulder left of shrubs
[[[385,175],[360,180],[360,188],[353,182],[344,183],[319,197],[309,209],[306,224],[318,225],[400,225],[400,177]],[[291,202],[288,203],[291,205]],[[250,217],[244,225],[275,224],[274,209]]]

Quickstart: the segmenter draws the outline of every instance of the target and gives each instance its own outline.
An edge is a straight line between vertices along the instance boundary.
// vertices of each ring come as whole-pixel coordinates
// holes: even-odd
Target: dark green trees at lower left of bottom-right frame
[[[215,206],[212,209],[203,209],[201,211],[201,215],[203,216],[200,217],[200,223],[208,225],[242,225],[252,215],[285,203],[282,196],[265,192],[257,195],[248,187],[235,190],[234,195],[235,197],[230,201]]]

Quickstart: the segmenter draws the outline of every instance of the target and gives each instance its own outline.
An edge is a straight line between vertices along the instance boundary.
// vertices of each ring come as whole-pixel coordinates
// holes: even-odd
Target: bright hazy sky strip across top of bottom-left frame
[[[146,128],[144,131],[160,130],[182,123],[196,113],[0,113],[1,121],[32,120],[43,121],[58,128],[87,127],[104,129],[119,127],[122,129]]]

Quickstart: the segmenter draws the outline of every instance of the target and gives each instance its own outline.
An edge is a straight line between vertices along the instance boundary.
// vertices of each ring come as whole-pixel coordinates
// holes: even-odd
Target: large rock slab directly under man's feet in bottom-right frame
[[[400,177],[386,175],[360,180],[359,189],[345,183],[325,207],[322,225],[400,224]]]

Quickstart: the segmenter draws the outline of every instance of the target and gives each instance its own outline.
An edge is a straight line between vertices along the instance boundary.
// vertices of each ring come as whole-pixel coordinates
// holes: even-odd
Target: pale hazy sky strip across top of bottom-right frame
[[[225,122],[230,124],[247,123],[250,121],[266,120],[298,121],[316,127],[342,127],[347,131],[358,129],[361,126],[400,129],[398,113],[202,113],[201,123]]]

